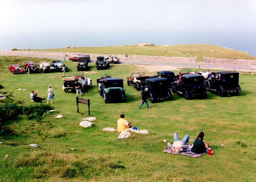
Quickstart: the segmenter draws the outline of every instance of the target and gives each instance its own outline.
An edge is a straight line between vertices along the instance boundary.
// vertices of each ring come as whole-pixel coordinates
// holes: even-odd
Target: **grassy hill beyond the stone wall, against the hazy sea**
[[[99,54],[122,54],[125,55],[156,55],[156,56],[179,56],[195,57],[197,61],[202,62],[203,57],[215,57],[226,59],[253,59],[256,57],[248,53],[226,49],[216,45],[208,44],[188,44],[188,45],[170,45],[159,46],[147,44],[149,46],[109,46],[109,47],[72,47],[57,49],[35,49],[34,51],[61,51],[61,52],[81,52],[81,53],[99,53]],[[189,55],[187,55],[189,54]]]

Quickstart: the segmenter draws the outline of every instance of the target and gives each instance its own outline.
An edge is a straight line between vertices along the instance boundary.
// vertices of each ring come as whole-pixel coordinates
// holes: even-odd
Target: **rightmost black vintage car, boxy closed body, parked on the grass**
[[[237,96],[241,91],[238,84],[239,73],[235,71],[216,71],[212,76],[205,80],[207,90],[218,92],[220,97],[227,95]]]

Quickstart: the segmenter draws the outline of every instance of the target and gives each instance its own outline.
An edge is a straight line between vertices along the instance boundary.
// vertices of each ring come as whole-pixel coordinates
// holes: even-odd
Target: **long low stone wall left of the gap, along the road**
[[[21,55],[44,55],[44,56],[61,56],[71,57],[77,54],[88,54],[91,59],[96,59],[97,56],[108,57],[109,54],[97,54],[97,53],[75,53],[75,52],[47,52],[47,51],[11,51],[0,50],[1,54],[21,54]],[[115,54],[119,59],[125,59],[125,55]],[[155,60],[155,61],[177,61],[177,62],[197,62],[197,57],[166,57],[166,56],[149,56],[149,55],[128,55],[129,60]]]

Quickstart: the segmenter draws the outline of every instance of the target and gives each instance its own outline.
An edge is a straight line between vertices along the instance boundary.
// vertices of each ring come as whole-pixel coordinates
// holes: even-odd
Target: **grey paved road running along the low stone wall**
[[[8,54],[0,54],[0,55],[7,55]],[[13,54],[12,54],[13,56]],[[43,55],[22,55],[22,54],[17,54],[17,56],[24,56],[24,57],[40,57],[40,58],[50,58],[50,59],[57,59],[57,60],[63,60],[64,57],[60,56],[43,56]],[[68,57],[65,57],[66,61],[68,60]],[[94,59],[91,60],[96,61]],[[171,67],[180,67],[180,68],[200,68],[201,69],[227,69],[227,70],[232,70],[236,69],[237,71],[253,71],[256,72],[256,65],[233,65],[233,64],[214,64],[214,63],[190,63],[190,62],[174,62],[174,61],[155,61],[155,60],[147,60],[147,61],[142,61],[142,60],[120,60],[120,63],[122,64],[134,64],[134,65],[156,65],[156,66],[171,66]]]

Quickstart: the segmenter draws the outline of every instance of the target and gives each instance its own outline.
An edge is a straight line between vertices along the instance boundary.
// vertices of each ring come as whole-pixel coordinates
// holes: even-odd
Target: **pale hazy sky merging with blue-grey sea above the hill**
[[[0,0],[0,50],[214,44],[256,56],[256,0]]]

